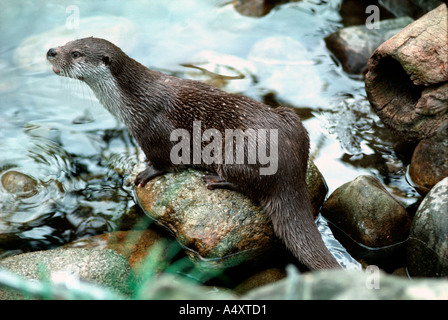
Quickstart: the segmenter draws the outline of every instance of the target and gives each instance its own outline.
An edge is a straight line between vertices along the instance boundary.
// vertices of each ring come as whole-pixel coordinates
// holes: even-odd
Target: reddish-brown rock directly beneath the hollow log
[[[448,122],[438,133],[419,142],[409,166],[409,177],[414,188],[426,194],[440,180],[448,176]]]

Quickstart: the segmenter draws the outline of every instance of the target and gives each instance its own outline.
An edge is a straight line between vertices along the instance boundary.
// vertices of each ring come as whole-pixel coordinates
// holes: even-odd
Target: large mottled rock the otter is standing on
[[[320,173],[315,168],[308,174]],[[234,265],[257,260],[279,245],[269,217],[259,207],[240,193],[208,190],[202,175],[194,170],[166,174],[137,188],[136,196],[143,210],[168,228],[195,261]],[[322,186],[314,182],[313,190]],[[318,212],[322,202],[316,199],[325,195],[311,197]]]

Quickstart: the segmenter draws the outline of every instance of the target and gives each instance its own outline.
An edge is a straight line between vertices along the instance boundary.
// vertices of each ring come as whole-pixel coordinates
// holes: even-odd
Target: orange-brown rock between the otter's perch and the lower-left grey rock
[[[104,233],[79,239],[64,248],[111,249],[123,256],[133,269],[138,269],[151,247],[165,235],[156,230],[132,230]]]

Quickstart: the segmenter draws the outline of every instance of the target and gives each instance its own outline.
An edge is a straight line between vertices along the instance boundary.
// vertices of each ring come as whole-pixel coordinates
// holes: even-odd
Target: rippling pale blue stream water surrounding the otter
[[[366,174],[414,202],[364,83],[325,48],[341,27],[339,3],[302,1],[249,18],[228,1],[0,0],[0,170],[39,184],[26,199],[0,187],[0,233],[12,235],[0,256],[112,231],[134,205],[123,180],[141,152],[89,88],[45,60],[50,47],[92,35],[152,69],[296,108],[330,193]]]

